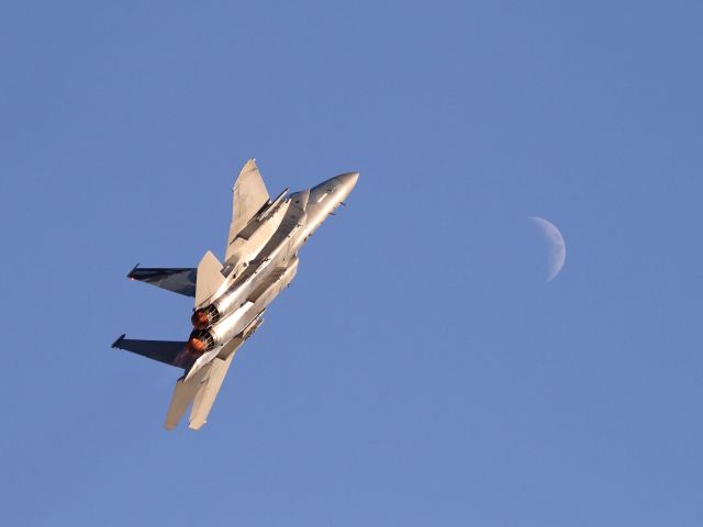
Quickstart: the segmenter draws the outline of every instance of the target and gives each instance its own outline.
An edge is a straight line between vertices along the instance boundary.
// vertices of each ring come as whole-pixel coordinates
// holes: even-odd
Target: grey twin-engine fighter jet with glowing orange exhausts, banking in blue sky
[[[188,340],[135,340],[122,335],[113,348],[182,368],[166,415],[174,429],[192,405],[188,426],[208,419],[236,350],[264,322],[266,307],[287,288],[298,270],[298,251],[349,195],[359,177],[347,172],[312,189],[274,200],[250,159],[232,191],[232,224],[221,262],[205,253],[197,268],[143,268],[127,278],[193,296],[193,330]]]

